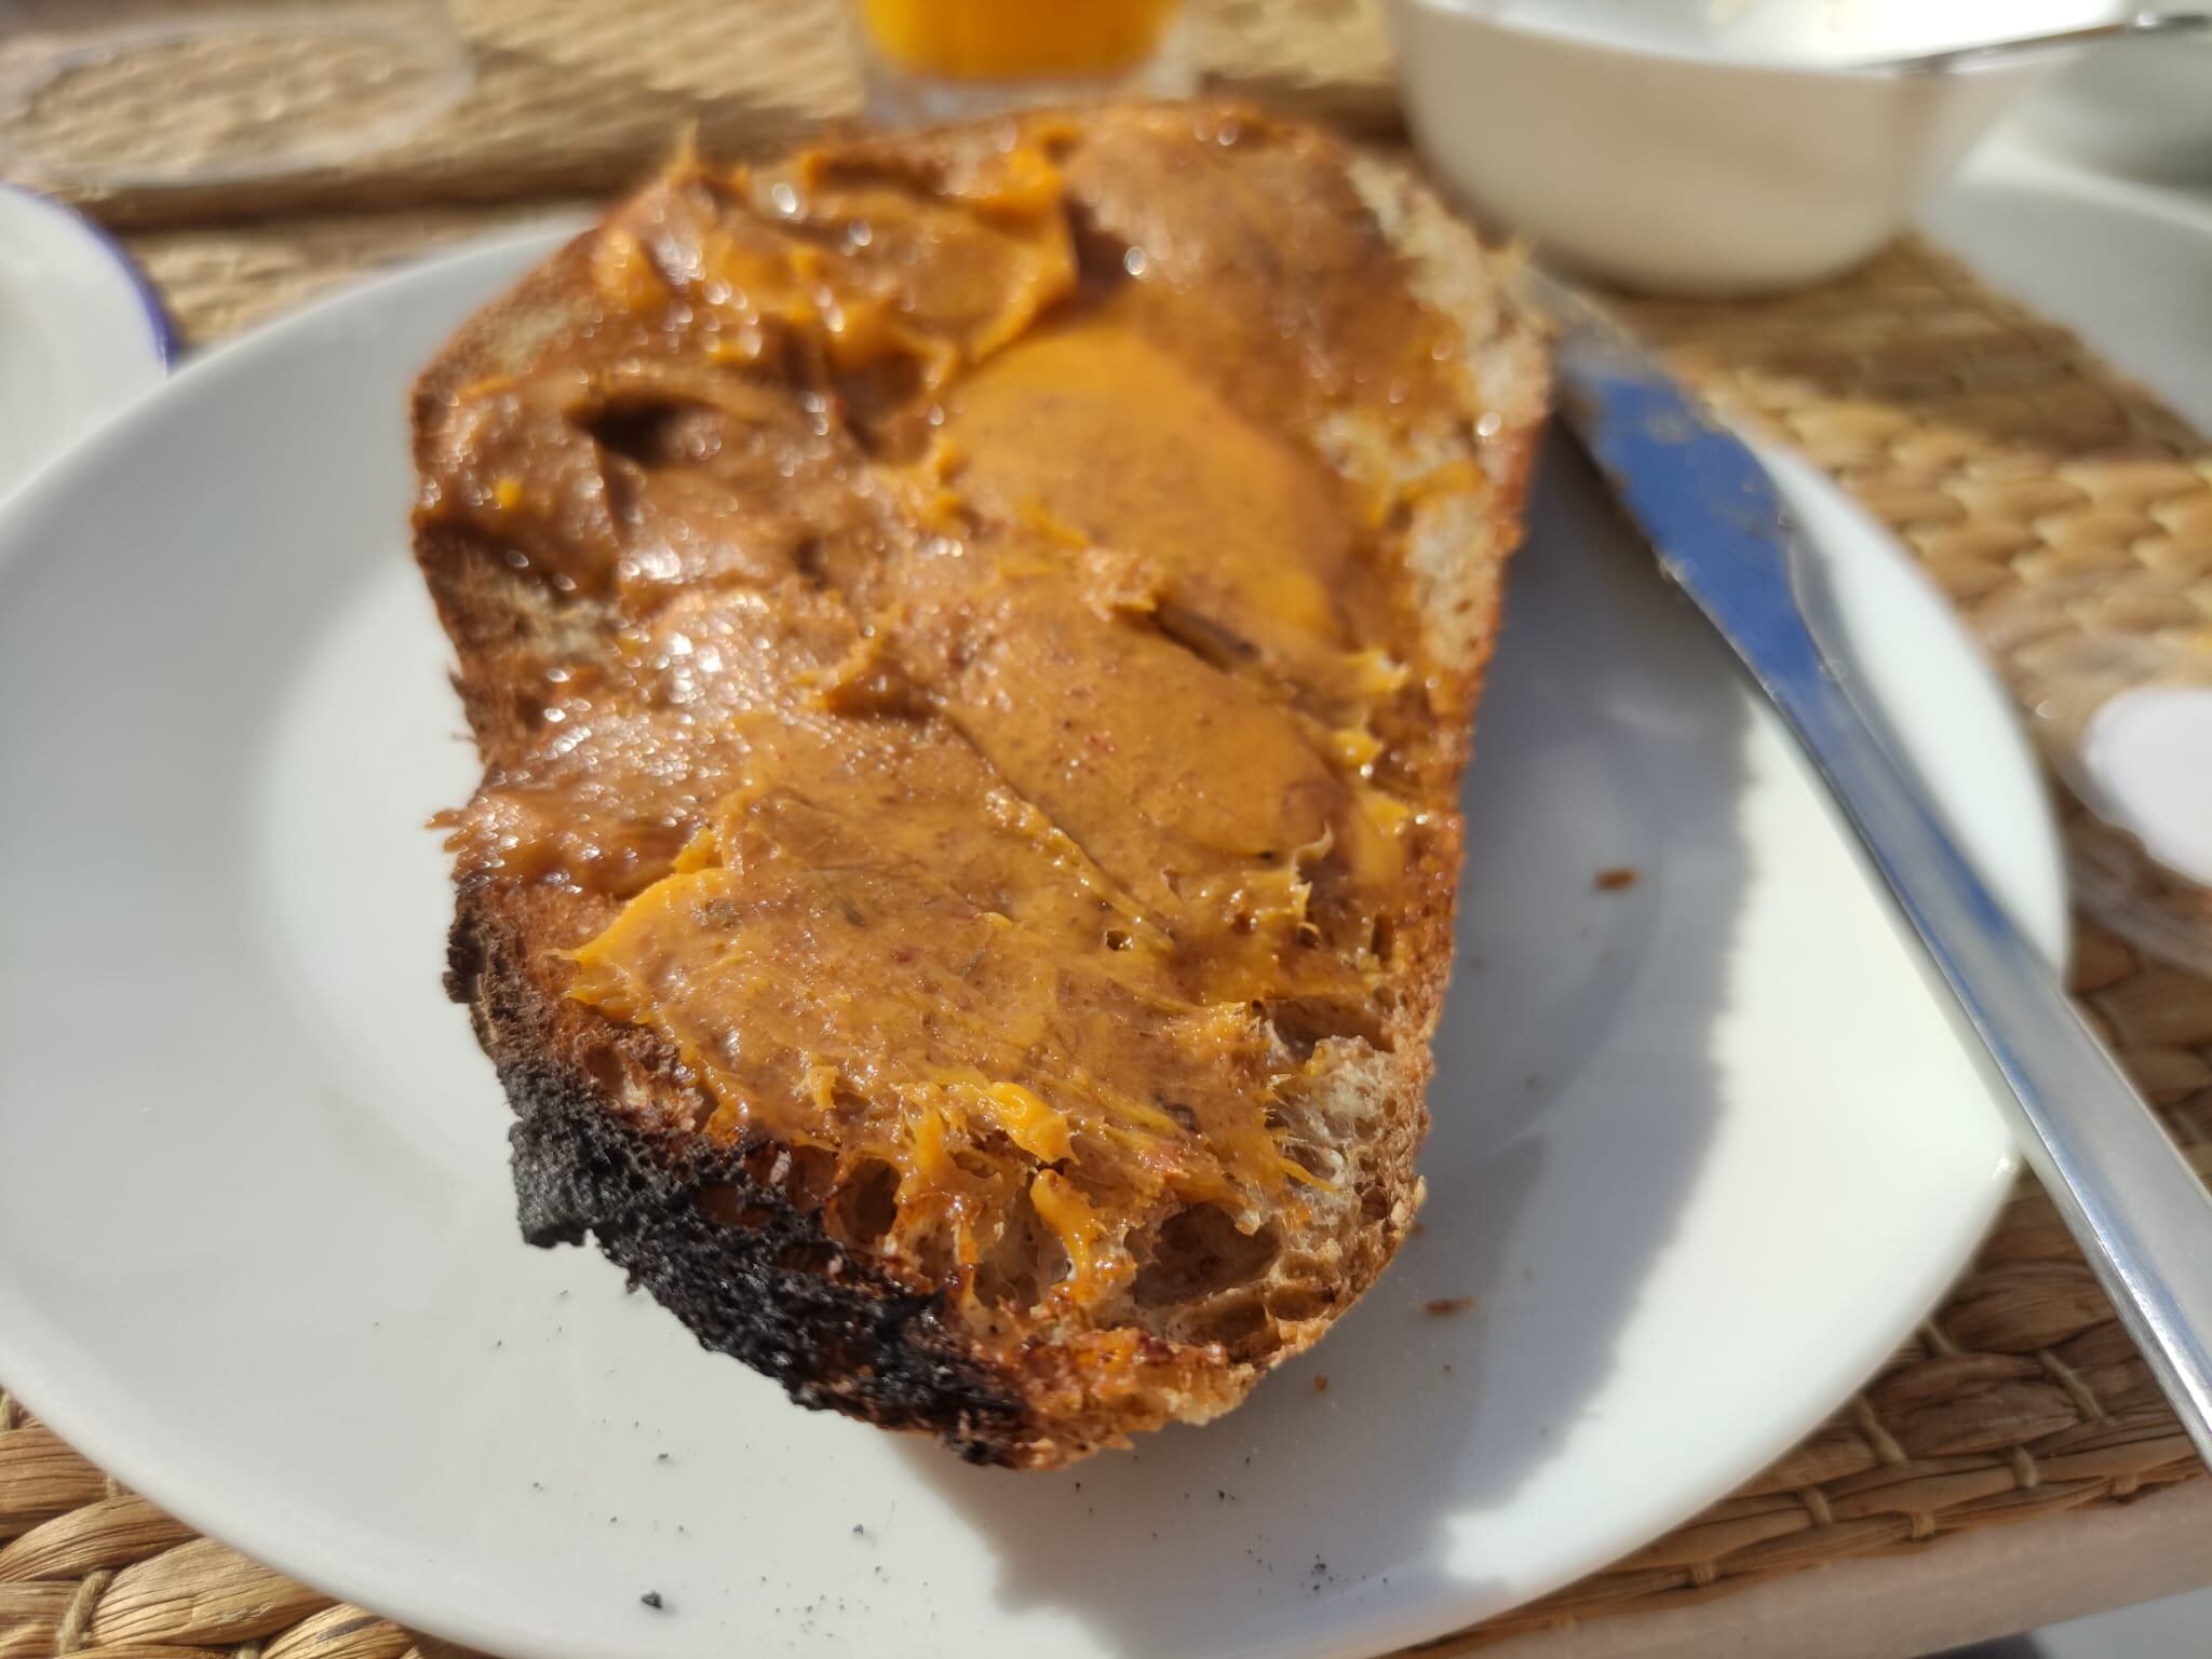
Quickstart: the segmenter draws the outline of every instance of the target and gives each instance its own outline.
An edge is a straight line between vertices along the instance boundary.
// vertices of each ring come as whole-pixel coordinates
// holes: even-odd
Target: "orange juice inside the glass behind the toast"
[[[891,66],[960,82],[1073,80],[1144,64],[1177,0],[858,0]]]

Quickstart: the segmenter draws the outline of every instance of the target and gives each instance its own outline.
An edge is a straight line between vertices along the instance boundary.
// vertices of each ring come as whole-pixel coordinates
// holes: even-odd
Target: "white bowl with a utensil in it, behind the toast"
[[[1849,64],[2104,15],[2086,0],[1391,0],[1429,166],[1546,261],[1677,294],[1847,270],[2055,69]]]

